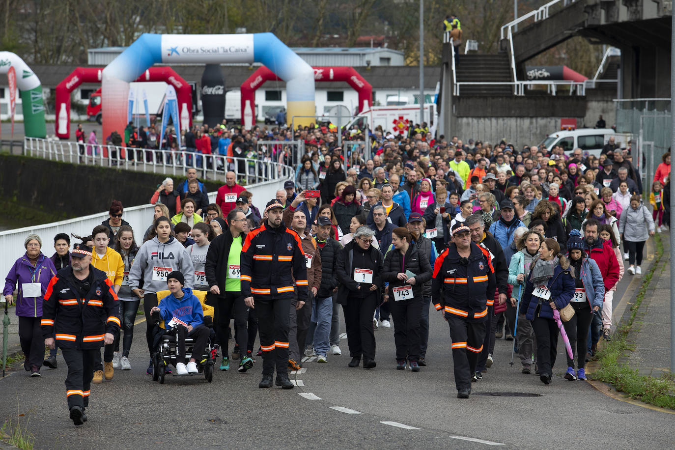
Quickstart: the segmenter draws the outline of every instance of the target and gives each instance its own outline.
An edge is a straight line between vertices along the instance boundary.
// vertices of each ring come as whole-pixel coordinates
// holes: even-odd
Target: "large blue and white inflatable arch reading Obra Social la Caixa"
[[[288,117],[313,123],[314,71],[274,34],[144,33],[103,69],[103,136],[124,130],[129,83],[155,63],[253,62],[286,81]]]

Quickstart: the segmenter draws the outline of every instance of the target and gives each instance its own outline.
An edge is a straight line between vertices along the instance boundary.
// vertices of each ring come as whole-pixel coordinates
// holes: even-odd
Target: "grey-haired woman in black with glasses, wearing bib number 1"
[[[375,367],[375,333],[373,314],[380,304],[383,287],[382,254],[373,248],[373,230],[358,227],[354,240],[338,252],[335,271],[340,281],[337,302],[344,309],[347,343],[352,360],[350,367]]]

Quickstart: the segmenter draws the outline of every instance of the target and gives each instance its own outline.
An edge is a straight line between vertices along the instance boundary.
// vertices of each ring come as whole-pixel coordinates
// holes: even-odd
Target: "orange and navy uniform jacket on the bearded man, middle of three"
[[[307,266],[298,234],[284,223],[269,227],[267,221],[246,235],[240,260],[242,295],[262,300],[307,300]]]

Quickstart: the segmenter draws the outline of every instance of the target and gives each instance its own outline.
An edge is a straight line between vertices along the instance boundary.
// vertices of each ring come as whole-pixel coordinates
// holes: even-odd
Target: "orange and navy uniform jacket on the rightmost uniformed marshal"
[[[487,319],[487,302],[495,296],[495,269],[485,248],[470,244],[466,260],[451,244],[436,258],[431,280],[431,299],[436,310],[466,318],[470,322]]]

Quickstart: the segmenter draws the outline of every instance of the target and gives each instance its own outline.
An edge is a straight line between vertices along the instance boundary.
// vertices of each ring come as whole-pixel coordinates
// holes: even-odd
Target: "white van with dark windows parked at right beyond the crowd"
[[[583,156],[600,156],[600,152],[614,136],[614,142],[619,148],[628,146],[631,139],[630,133],[617,133],[612,128],[579,128],[578,130],[560,131],[549,134],[547,138],[539,145],[543,145],[549,150],[554,145],[560,145],[565,150],[565,154],[571,154],[574,148],[581,148]]]

